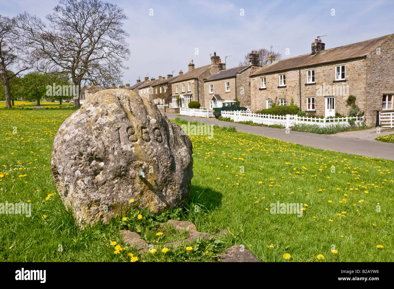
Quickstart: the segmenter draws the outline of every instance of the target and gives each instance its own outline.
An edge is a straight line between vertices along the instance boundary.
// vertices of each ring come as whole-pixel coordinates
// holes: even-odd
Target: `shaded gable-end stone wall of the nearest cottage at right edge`
[[[383,94],[394,94],[394,35],[366,57],[367,92],[366,125],[379,124],[376,111],[382,110]],[[394,110],[384,110],[387,112]],[[377,122],[377,123],[376,123]]]

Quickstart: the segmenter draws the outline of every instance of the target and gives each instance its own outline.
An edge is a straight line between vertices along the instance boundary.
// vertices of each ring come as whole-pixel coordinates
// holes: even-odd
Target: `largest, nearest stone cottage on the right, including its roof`
[[[305,112],[348,115],[346,100],[356,97],[366,125],[377,111],[392,111],[394,34],[325,50],[320,39],[311,53],[275,61],[251,74],[251,106],[259,111],[293,100]]]

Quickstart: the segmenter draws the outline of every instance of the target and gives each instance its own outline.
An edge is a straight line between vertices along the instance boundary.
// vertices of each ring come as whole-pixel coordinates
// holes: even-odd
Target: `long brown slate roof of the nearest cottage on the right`
[[[374,50],[377,46],[385,42],[385,40],[387,40],[389,37],[392,37],[392,35],[394,34],[389,34],[362,42],[330,48],[327,50],[320,50],[315,55],[309,53],[274,61],[269,65],[264,65],[262,68],[260,68],[250,76],[364,57],[366,54]]]

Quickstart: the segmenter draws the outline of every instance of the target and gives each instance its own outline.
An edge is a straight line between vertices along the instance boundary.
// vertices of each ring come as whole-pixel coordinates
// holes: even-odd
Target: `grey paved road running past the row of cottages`
[[[166,113],[166,115],[169,118],[178,117],[177,114]],[[237,131],[253,133],[260,136],[266,136],[268,138],[276,138],[285,142],[316,147],[318,149],[327,149],[353,155],[394,160],[394,144],[377,142],[375,140],[344,138],[327,134],[303,133],[291,130],[290,133],[286,134],[285,129],[273,129],[271,127],[229,123],[227,121],[217,120],[216,118],[197,118],[190,116],[179,116],[179,118],[188,121],[198,121],[201,123],[212,123],[213,125],[231,125],[235,126]]]

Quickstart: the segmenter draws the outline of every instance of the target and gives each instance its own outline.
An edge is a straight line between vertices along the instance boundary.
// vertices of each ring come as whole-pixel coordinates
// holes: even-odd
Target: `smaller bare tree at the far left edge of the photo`
[[[0,15],[0,81],[4,84],[7,108],[11,108],[11,79],[29,69],[27,58],[23,57],[25,52],[17,36],[15,18]]]

